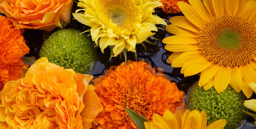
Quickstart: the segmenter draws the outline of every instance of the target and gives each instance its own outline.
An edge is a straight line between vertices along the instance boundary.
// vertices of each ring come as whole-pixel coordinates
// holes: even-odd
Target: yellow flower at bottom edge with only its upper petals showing
[[[225,119],[219,119],[207,126],[207,116],[204,111],[197,110],[190,112],[186,110],[182,115],[177,112],[176,117],[170,111],[165,111],[163,117],[158,114],[153,115],[153,122],[144,122],[146,129],[220,129],[226,125]]]

